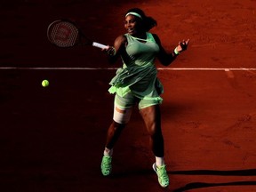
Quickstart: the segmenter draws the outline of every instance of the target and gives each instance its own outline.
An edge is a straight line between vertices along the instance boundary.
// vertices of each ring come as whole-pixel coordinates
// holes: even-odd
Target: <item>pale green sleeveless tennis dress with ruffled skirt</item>
[[[116,76],[110,81],[110,93],[124,96],[132,92],[143,100],[163,100],[159,95],[164,92],[155,66],[159,46],[154,36],[147,32],[147,39],[140,39],[129,34],[127,38],[126,53],[122,54],[123,68],[116,70]],[[142,42],[141,42],[142,41]]]

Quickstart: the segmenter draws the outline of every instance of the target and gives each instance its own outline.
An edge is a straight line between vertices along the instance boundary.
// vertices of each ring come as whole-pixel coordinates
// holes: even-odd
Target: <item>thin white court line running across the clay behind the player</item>
[[[117,68],[16,68],[0,67],[0,70],[116,70]],[[256,71],[256,68],[157,68],[158,70],[201,70],[201,71]]]

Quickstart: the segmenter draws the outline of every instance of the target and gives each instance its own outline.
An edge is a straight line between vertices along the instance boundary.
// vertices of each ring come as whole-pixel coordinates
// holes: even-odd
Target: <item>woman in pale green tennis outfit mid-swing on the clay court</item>
[[[161,131],[161,114],[159,105],[163,86],[157,79],[154,61],[157,58],[167,66],[177,55],[186,50],[189,39],[178,44],[172,53],[167,53],[156,34],[148,31],[156,26],[156,20],[134,8],[126,12],[124,28],[127,33],[117,36],[114,46],[105,49],[109,60],[115,62],[118,57],[123,60],[123,68],[118,68],[116,76],[111,80],[110,93],[115,93],[113,122],[108,128],[107,141],[101,162],[101,172],[108,176],[112,170],[112,155],[116,140],[125,125],[129,122],[132,107],[138,104],[148,133],[156,163],[153,169],[159,184],[165,188],[169,185],[169,177],[164,164],[164,138]]]

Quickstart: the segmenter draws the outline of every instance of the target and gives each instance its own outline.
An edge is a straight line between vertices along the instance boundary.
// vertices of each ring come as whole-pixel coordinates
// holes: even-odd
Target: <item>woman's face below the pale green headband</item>
[[[128,15],[125,20],[124,20],[124,28],[126,28],[127,32],[131,36],[136,36],[137,34],[140,33],[140,21],[133,16],[133,15]]]

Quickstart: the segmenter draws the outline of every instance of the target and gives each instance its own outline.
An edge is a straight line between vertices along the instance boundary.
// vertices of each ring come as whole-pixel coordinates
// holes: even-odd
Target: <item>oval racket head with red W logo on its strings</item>
[[[72,47],[80,42],[81,32],[70,20],[54,20],[47,28],[48,40],[58,47]]]

